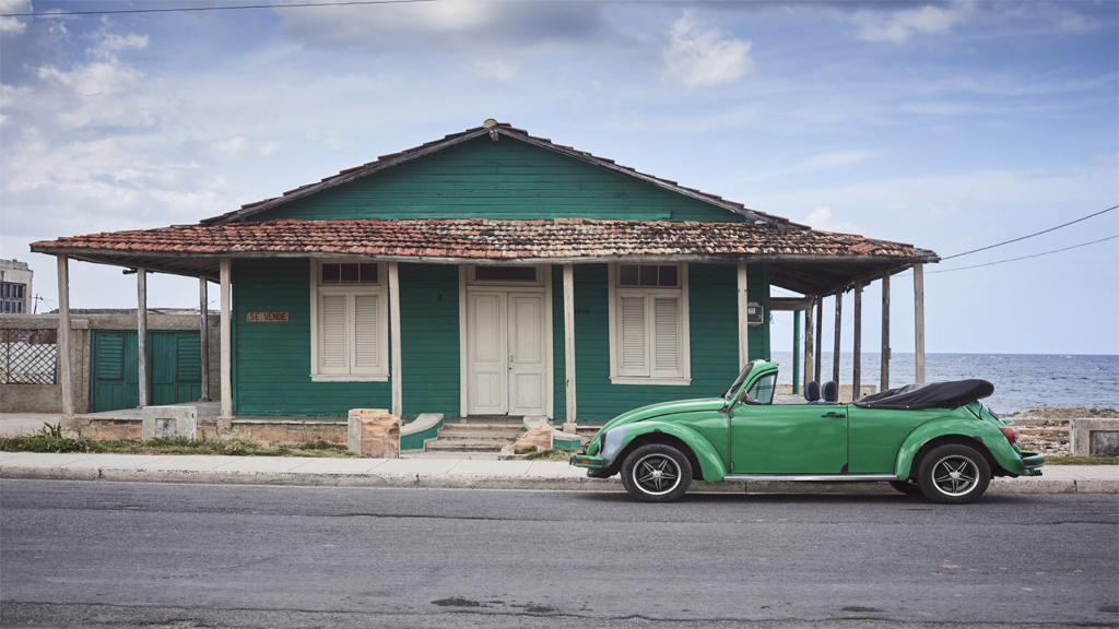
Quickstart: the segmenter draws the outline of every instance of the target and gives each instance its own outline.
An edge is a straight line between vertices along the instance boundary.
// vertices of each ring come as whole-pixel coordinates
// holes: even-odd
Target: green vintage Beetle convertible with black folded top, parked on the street
[[[993,476],[1041,476],[1045,464],[978,402],[995,391],[986,381],[908,385],[852,404],[837,404],[828,383],[824,400],[809,392],[774,404],[777,373],[755,360],[722,397],[619,415],[571,463],[594,478],[621,472],[626,490],[649,503],[676,500],[695,479],[888,481],[944,504],[976,500]]]

